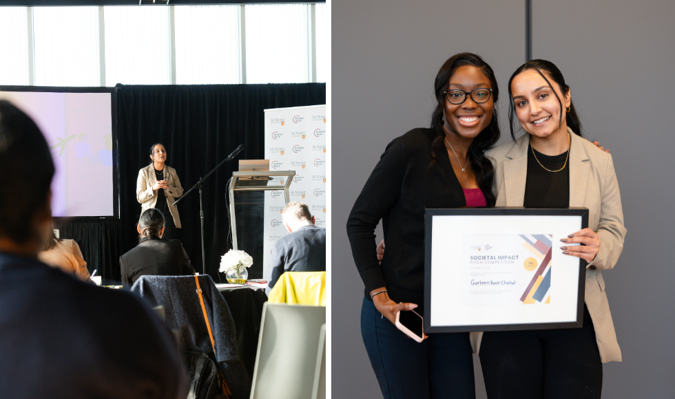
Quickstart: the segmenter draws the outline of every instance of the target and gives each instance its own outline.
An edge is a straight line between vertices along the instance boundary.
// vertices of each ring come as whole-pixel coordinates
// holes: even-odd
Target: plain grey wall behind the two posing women
[[[586,136],[610,148],[621,186],[625,250],[603,277],[624,360],[604,366],[604,397],[672,398],[675,268],[666,233],[675,224],[675,4],[533,3],[532,55],[560,67]],[[332,391],[333,398],[377,398],[346,218],[386,144],[428,126],[435,74],[457,52],[481,54],[495,69],[506,140],[506,83],[525,61],[525,1],[341,0],[333,2],[332,25]],[[475,365],[477,397],[485,398],[477,358]]]

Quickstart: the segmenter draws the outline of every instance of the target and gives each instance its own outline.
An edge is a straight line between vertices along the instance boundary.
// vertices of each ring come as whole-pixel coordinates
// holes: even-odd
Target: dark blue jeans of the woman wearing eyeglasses
[[[385,399],[475,399],[468,333],[429,334],[417,343],[364,297],[361,335]]]

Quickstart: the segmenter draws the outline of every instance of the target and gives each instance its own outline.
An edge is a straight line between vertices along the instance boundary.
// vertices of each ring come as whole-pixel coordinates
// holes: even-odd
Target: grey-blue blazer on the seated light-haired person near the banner
[[[284,272],[325,272],[326,229],[304,226],[284,235],[274,243],[269,266],[268,294]]]

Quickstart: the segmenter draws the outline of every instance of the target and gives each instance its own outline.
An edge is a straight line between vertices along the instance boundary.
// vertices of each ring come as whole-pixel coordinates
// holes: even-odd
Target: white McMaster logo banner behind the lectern
[[[265,159],[270,171],[295,171],[290,200],[304,202],[326,227],[326,106],[265,109]],[[281,219],[282,190],[267,191],[264,206],[263,277],[269,278],[269,257],[276,240],[288,234]]]

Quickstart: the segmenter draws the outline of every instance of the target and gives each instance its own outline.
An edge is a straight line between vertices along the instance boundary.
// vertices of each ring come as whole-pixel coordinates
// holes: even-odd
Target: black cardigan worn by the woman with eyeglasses
[[[351,210],[347,235],[366,295],[386,286],[394,301],[424,305],[424,209],[466,206],[447,152],[429,167],[435,137],[418,128],[389,143]],[[380,219],[382,265],[375,252]]]

